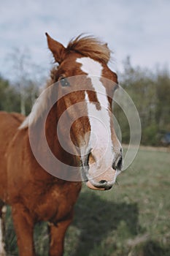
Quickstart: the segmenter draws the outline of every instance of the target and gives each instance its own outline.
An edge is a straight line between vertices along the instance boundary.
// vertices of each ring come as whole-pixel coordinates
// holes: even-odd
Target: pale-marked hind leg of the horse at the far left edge
[[[4,220],[7,208],[4,206],[4,203],[0,200],[0,255],[5,256],[6,252],[4,249]]]

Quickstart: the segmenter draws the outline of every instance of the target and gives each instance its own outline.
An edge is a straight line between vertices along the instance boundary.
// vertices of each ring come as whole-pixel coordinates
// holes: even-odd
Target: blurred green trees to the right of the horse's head
[[[124,63],[120,85],[130,95],[139,112],[142,125],[142,144],[158,146],[160,132],[170,131],[170,76],[166,69],[155,73],[149,69],[132,67],[130,58]],[[114,114],[122,128],[123,143],[128,143],[128,121],[123,111],[115,106]]]

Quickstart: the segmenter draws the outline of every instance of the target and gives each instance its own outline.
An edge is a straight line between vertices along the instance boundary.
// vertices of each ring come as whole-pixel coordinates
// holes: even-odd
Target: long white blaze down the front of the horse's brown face
[[[105,162],[105,167],[108,165],[112,166],[114,156],[112,151],[109,100],[107,98],[107,91],[100,80],[103,67],[99,62],[88,57],[79,58],[77,62],[82,64],[82,67],[80,67],[82,71],[88,74],[88,78],[91,80],[101,106],[101,109],[97,110],[96,105],[90,102],[88,93],[85,91],[85,100],[87,102],[88,118],[90,121],[90,141],[87,150],[95,148],[98,159],[102,159],[103,163]],[[98,164],[100,164],[99,162]]]

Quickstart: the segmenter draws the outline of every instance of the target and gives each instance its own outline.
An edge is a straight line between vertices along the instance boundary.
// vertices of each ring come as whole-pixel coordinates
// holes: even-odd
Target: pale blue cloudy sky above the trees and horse
[[[126,56],[134,66],[170,67],[169,0],[0,0],[0,74],[12,78],[15,48],[47,72],[53,58],[45,32],[64,46],[81,33],[98,37],[113,51],[117,72]]]

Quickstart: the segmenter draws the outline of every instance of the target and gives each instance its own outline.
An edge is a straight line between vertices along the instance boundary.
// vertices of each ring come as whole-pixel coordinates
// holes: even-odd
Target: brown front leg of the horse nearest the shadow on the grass
[[[50,256],[63,255],[64,236],[67,228],[72,222],[72,219],[73,216],[61,222],[58,222],[56,225],[50,223]]]

